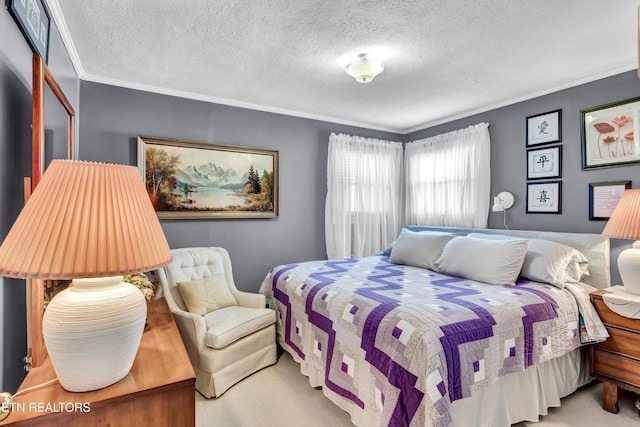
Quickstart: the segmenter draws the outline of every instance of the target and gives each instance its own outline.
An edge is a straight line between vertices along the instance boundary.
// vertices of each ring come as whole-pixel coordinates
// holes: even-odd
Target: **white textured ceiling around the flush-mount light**
[[[84,80],[398,133],[638,64],[631,0],[48,3]]]

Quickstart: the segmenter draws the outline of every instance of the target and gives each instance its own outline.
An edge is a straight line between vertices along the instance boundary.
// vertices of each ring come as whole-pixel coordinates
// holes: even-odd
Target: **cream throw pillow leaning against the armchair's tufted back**
[[[222,273],[177,282],[176,285],[187,310],[194,314],[203,315],[220,308],[238,305]]]

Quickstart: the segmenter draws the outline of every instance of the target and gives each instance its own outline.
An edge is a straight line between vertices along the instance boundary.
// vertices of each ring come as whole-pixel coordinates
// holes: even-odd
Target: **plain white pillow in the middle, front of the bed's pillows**
[[[435,262],[435,270],[490,285],[513,285],[526,253],[523,239],[454,237]]]

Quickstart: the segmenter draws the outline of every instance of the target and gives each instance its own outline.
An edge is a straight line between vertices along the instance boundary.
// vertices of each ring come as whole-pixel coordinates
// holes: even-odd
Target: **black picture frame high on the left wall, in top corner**
[[[9,14],[27,40],[31,50],[49,60],[51,15],[44,0],[5,0]]]

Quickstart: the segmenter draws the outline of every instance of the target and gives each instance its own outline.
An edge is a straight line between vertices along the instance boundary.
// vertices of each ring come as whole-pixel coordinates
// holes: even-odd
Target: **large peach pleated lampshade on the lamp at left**
[[[133,166],[53,160],[0,246],[0,275],[34,279],[150,271],[171,252]]]

